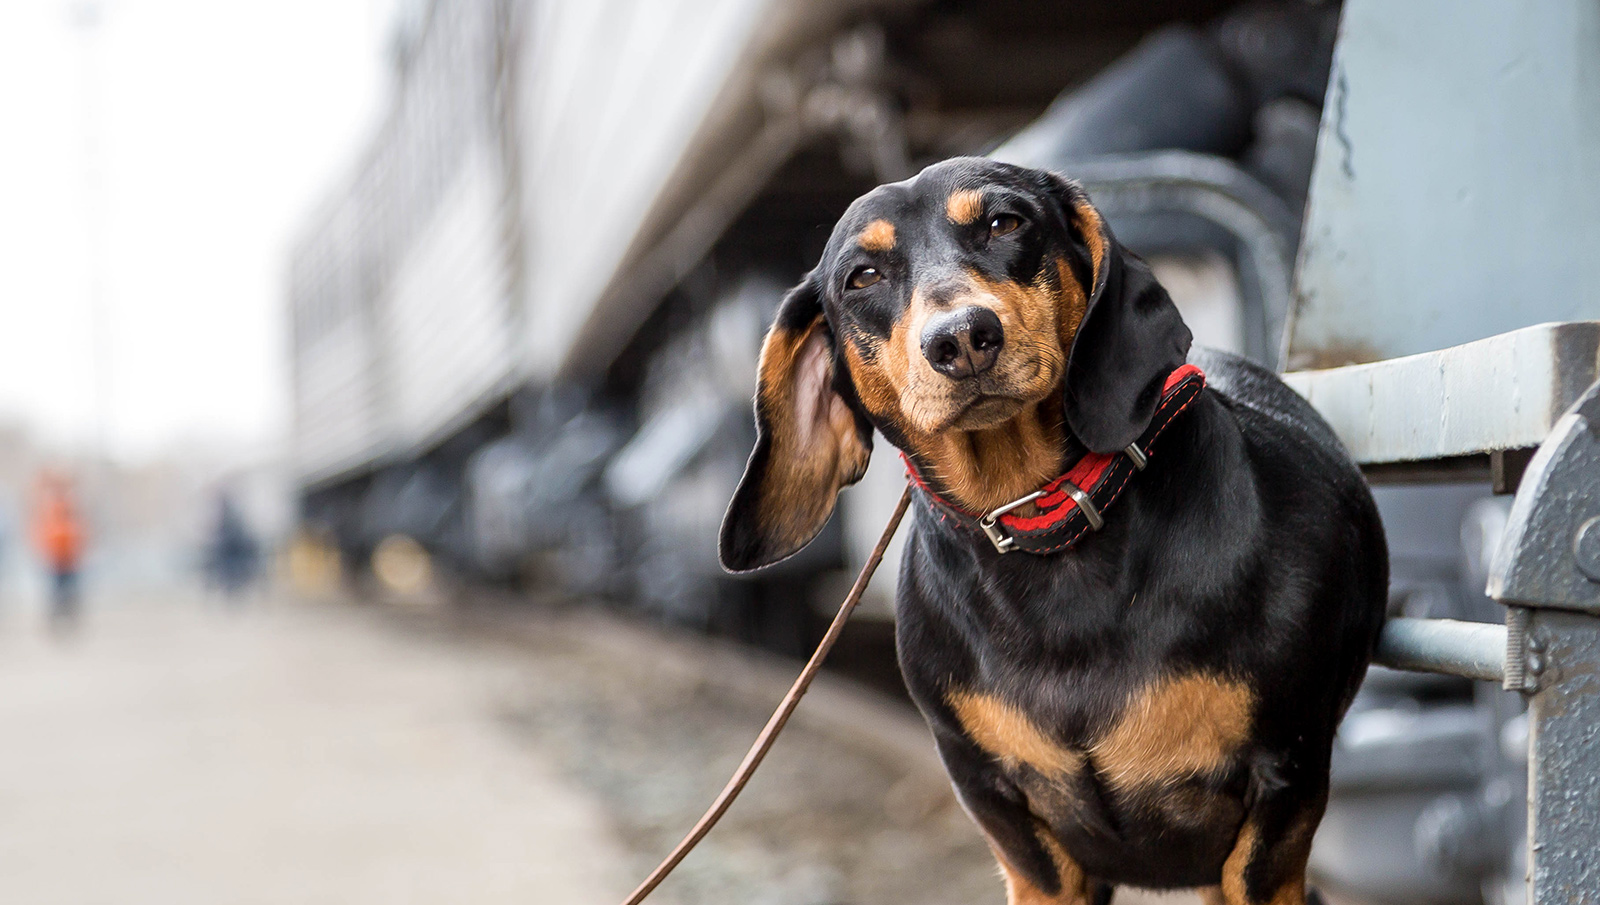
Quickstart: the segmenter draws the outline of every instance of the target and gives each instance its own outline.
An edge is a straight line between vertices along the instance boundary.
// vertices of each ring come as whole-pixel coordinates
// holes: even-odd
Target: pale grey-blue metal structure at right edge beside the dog
[[[1371,838],[1432,862],[1342,878],[1384,902],[1600,902],[1597,110],[1592,2],[1344,3],[1286,341],[1290,366],[1325,369],[1285,379],[1374,484],[1515,494],[1504,528],[1474,528],[1506,624],[1392,619],[1378,662],[1520,699],[1477,686],[1352,712],[1341,732],[1360,747],[1389,721],[1394,744],[1368,745],[1387,763],[1358,764],[1389,785],[1330,807],[1323,863],[1349,868]]]

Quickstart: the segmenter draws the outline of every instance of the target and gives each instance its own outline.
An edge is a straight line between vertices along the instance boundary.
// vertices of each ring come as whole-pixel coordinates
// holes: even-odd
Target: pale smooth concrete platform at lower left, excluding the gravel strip
[[[515,657],[349,611],[0,622],[0,900],[606,905],[603,809],[509,736]],[[91,601],[93,604],[93,601]]]

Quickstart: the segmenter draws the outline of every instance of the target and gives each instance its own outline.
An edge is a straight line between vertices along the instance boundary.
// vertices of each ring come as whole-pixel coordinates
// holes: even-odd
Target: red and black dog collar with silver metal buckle
[[[1102,513],[1117,502],[1128,480],[1149,464],[1155,438],[1178,413],[1195,401],[1203,389],[1205,374],[1200,368],[1194,365],[1178,368],[1168,374],[1166,385],[1162,387],[1162,401],[1155,406],[1150,425],[1126,449],[1115,454],[1088,452],[1067,468],[1067,473],[984,515],[966,512],[941,497],[922,480],[904,452],[901,459],[906,460],[906,476],[926,496],[941,520],[984,534],[1000,553],[1014,550],[1035,555],[1059,553],[1106,523]],[[1026,518],[1011,515],[1026,504],[1038,507],[1038,515]]]

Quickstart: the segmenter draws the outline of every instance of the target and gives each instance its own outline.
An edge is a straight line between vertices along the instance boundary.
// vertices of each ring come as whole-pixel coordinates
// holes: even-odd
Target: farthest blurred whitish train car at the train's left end
[[[352,564],[390,534],[464,553],[461,460],[525,360],[514,6],[403,10],[392,107],[290,262],[302,513]]]

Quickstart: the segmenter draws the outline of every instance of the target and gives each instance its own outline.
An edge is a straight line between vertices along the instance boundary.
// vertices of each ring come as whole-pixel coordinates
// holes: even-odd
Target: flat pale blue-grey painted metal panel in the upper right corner
[[[1600,318],[1595,248],[1600,3],[1346,2],[1290,368]]]

